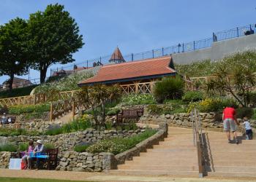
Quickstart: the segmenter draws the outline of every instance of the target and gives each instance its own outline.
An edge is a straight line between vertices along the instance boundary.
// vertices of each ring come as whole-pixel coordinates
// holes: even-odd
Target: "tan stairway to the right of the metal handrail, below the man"
[[[225,132],[206,133],[206,170],[208,176],[256,177],[256,141],[238,138],[239,144],[227,143]]]

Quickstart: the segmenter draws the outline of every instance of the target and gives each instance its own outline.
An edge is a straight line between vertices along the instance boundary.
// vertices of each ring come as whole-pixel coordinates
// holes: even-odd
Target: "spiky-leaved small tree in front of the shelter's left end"
[[[120,96],[121,90],[117,85],[106,86],[105,84],[97,84],[94,86],[83,87],[78,93],[83,105],[92,110],[94,121],[97,125],[105,124],[106,104],[116,100]],[[100,120],[99,120],[99,118]]]

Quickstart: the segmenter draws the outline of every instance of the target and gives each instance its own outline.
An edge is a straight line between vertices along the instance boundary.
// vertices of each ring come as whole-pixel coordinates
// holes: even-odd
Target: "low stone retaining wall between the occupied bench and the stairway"
[[[69,170],[78,172],[101,172],[102,170],[110,170],[111,153],[91,154],[88,152],[66,151],[59,155],[61,161],[56,170]]]

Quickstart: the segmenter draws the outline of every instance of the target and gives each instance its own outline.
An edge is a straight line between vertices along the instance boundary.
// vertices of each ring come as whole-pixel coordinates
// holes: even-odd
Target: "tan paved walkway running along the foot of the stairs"
[[[253,178],[176,178],[173,176],[135,176],[135,175],[108,175],[106,173],[85,173],[85,172],[69,172],[69,171],[54,171],[54,170],[5,170],[0,169],[0,177],[12,178],[50,178],[59,180],[71,181],[111,181],[111,182],[246,182],[255,181]]]

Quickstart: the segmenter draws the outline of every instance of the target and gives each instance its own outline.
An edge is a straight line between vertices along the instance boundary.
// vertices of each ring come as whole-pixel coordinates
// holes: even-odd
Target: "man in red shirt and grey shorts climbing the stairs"
[[[227,140],[228,143],[232,143],[230,140],[230,131],[233,132],[233,138],[236,141],[236,143],[238,144],[238,139],[236,136],[236,110],[234,108],[234,106],[230,106],[230,107],[226,107],[223,110],[223,114],[222,114],[222,120],[223,120],[223,127],[225,132],[227,132]]]

